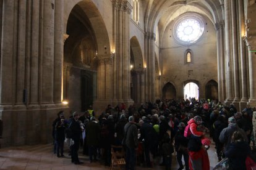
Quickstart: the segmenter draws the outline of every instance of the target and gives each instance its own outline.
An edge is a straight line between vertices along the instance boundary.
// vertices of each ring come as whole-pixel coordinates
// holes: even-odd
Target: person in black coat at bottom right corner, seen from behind
[[[234,131],[231,143],[226,147],[225,156],[229,158],[233,170],[245,170],[245,159],[250,153],[250,147],[240,130]]]

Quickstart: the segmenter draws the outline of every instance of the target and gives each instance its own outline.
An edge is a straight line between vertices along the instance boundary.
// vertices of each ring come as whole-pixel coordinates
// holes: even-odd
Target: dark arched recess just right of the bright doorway
[[[205,98],[206,99],[218,99],[218,83],[211,79],[205,84]]]

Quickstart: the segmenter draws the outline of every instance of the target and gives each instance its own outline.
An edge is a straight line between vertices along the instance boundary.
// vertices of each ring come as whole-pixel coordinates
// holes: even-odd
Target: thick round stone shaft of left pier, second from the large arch
[[[43,56],[41,68],[41,103],[53,103],[54,78],[54,0],[43,1]]]

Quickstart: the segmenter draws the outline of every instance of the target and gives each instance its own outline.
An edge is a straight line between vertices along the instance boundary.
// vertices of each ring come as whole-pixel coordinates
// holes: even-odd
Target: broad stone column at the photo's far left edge
[[[15,52],[15,31],[17,30],[17,6],[18,1],[4,1],[2,4],[2,39],[1,39],[1,67],[0,67],[0,105],[1,107],[15,102],[15,86],[12,84],[12,79],[15,78],[15,70],[13,65],[16,64],[14,60]],[[14,94],[14,95],[12,95]]]

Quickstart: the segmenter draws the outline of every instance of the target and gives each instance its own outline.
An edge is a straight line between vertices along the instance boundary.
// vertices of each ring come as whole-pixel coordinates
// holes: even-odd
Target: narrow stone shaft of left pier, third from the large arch
[[[30,71],[30,104],[38,104],[38,61],[39,61],[39,14],[40,3],[32,3],[32,36],[31,36],[31,71]]]

